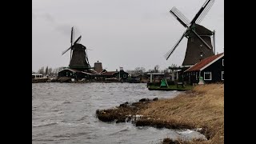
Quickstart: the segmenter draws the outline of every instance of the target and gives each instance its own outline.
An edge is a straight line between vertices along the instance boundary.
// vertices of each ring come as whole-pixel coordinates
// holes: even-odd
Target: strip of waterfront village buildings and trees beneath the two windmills
[[[157,65],[148,71],[143,67],[136,67],[134,70],[124,70],[123,67],[118,69],[107,71],[102,69],[102,62],[94,62],[90,69],[60,67],[58,73],[57,70],[54,73],[47,66],[46,70],[42,67],[38,73],[32,71],[32,82],[130,82],[162,88],[159,90],[178,85],[190,90],[190,86],[198,84],[224,82],[224,53],[204,58],[190,67],[172,65],[159,70]]]

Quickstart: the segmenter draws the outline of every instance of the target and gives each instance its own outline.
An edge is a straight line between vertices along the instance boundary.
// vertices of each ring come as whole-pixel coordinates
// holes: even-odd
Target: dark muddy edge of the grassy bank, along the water
[[[113,109],[107,110],[96,110],[96,115],[99,120],[102,122],[132,122],[134,126],[152,126],[155,128],[167,128],[172,130],[185,130],[190,129],[194,131],[198,131],[201,134],[209,135],[207,132],[207,128],[196,129],[191,123],[186,122],[178,122],[175,120],[161,120],[160,118],[152,118],[149,116],[143,116],[140,114],[140,110],[145,110],[149,108],[149,104],[151,102],[158,101],[158,98],[149,99],[142,98],[139,102],[125,102],[120,104],[120,106],[116,106]],[[207,137],[206,137],[207,138]],[[210,138],[210,137],[208,137]],[[207,139],[208,139],[207,138]],[[195,142],[203,141],[202,139],[196,140]],[[168,138],[166,142],[175,143],[182,142],[182,140],[170,140]],[[165,142],[165,143],[166,143]]]

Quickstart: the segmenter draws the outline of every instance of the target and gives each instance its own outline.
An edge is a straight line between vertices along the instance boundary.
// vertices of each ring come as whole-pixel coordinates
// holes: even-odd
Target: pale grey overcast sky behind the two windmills
[[[106,70],[146,70],[159,65],[182,65],[187,38],[166,61],[164,54],[186,30],[170,14],[175,6],[190,21],[206,0],[33,0],[32,70],[68,66],[70,30],[82,35],[90,66],[102,62]],[[200,25],[216,31],[216,51],[224,50],[224,1],[215,0]]]

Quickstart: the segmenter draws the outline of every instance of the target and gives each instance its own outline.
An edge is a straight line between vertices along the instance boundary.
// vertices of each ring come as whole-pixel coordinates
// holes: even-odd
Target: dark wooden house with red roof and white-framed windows
[[[202,59],[185,70],[182,77],[190,84],[198,83],[199,77],[206,83],[224,82],[224,53]]]

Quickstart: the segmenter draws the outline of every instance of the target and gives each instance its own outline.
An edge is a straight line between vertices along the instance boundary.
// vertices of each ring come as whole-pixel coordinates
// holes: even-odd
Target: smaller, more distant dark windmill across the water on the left
[[[71,69],[75,70],[86,70],[91,69],[88,56],[87,56],[87,49],[86,46],[80,44],[80,40],[82,35],[78,37],[76,41],[73,43],[73,34],[74,34],[74,27],[71,28],[71,46],[67,50],[62,52],[62,55],[65,54],[68,50],[70,50],[70,65]]]

